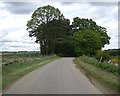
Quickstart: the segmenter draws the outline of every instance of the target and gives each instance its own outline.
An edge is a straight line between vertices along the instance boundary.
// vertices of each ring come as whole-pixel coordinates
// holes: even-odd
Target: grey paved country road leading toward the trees
[[[46,64],[13,83],[4,94],[102,94],[72,60]]]

